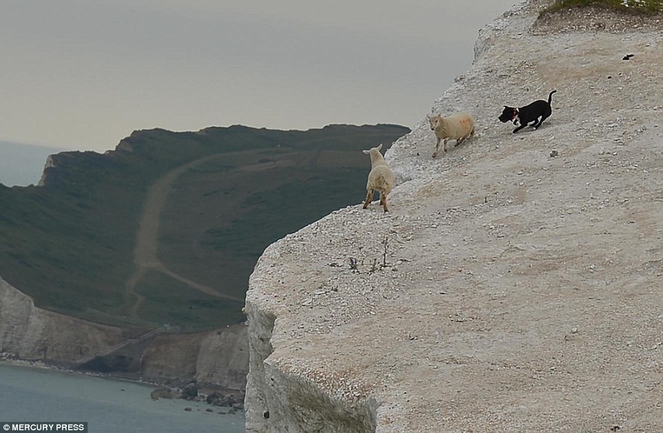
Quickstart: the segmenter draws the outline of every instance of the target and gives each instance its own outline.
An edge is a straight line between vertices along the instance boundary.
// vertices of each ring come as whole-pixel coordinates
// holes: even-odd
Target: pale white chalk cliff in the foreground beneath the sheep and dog
[[[247,432],[663,431],[660,17],[537,21],[547,3],[482,29],[434,101],[475,137],[433,160],[422,118],[391,147],[390,213],[258,260]],[[553,89],[539,129],[499,122]]]

